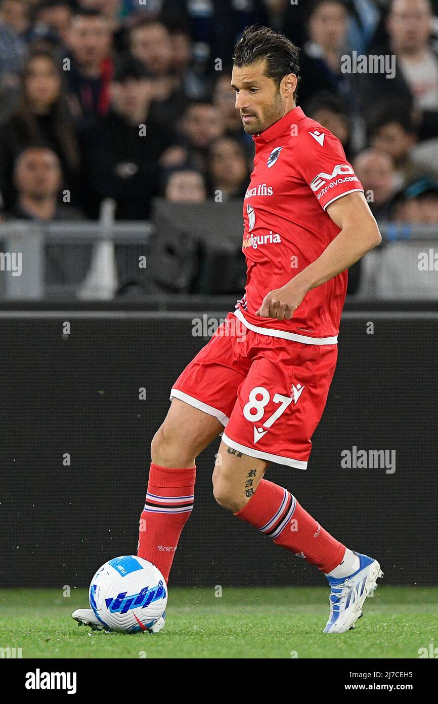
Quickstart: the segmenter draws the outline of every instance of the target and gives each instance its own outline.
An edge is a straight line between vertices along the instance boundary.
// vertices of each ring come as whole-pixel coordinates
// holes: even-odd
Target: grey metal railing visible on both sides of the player
[[[195,207],[195,206],[193,206]],[[382,246],[366,255],[363,260],[362,284],[359,298],[390,297],[389,282],[380,286],[387,271],[387,262],[392,266],[397,246],[397,256],[407,256],[407,246],[424,243],[435,245],[438,251],[437,225],[408,225],[404,223],[380,222]],[[146,246],[155,232],[152,222],[115,222],[114,204],[104,201],[101,218],[84,222],[28,222],[8,221],[0,225],[0,296],[10,300],[44,298],[79,298],[109,300],[117,289],[130,279],[139,277],[139,257],[146,257]],[[404,249],[404,245],[406,245]],[[81,279],[78,253],[89,248],[89,266]],[[74,282],[48,282],[46,279],[47,253],[56,249],[57,256],[67,261],[70,271],[79,279]],[[11,256],[20,254],[20,272],[12,270]],[[415,254],[415,253],[414,253]],[[8,256],[9,255],[9,256]],[[414,256],[415,258],[415,256]],[[76,260],[77,259],[77,260]],[[83,257],[86,259],[86,257]],[[16,259],[15,259],[16,260]],[[417,272],[413,260],[408,266],[408,277],[414,281]],[[397,268],[397,267],[396,267]],[[428,272],[429,282],[420,298],[438,296],[438,272]],[[434,283],[434,279],[437,282]],[[423,286],[425,277],[418,278]],[[415,286],[414,286],[415,288]],[[436,288],[436,293],[434,289]],[[397,291],[394,290],[397,298]],[[403,296],[401,296],[403,298]]]

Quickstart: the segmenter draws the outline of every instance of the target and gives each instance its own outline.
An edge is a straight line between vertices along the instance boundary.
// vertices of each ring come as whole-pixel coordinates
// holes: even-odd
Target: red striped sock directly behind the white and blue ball
[[[166,582],[179,536],[193,508],[195,475],[196,467],[171,469],[150,463],[137,555],[153,562]]]

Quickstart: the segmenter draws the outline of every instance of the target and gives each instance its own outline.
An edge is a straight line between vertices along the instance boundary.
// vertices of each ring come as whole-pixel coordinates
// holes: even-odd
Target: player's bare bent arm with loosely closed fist
[[[318,259],[281,289],[270,291],[255,315],[290,320],[308,291],[348,269],[382,241],[378,224],[361,191],[338,198],[330,203],[326,212],[341,228],[340,233]]]

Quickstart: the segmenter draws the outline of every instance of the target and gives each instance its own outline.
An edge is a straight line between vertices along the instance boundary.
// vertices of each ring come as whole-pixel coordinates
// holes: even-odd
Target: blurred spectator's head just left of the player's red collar
[[[181,142],[186,149],[186,161],[205,171],[210,144],[224,134],[219,109],[204,100],[191,102],[179,122]]]

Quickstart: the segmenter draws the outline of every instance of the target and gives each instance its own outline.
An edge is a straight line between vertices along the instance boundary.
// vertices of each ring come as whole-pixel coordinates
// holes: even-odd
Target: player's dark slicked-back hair
[[[275,82],[277,89],[283,78],[290,73],[299,77],[299,49],[283,34],[269,27],[251,25],[246,27],[243,37],[234,47],[234,65],[247,66],[266,60],[266,75]],[[297,96],[295,89],[294,98]]]

